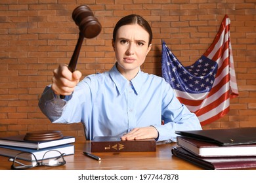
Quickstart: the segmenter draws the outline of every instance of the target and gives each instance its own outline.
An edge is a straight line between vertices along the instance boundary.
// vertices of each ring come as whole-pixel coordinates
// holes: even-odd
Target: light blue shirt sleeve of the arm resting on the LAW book
[[[200,130],[202,129],[196,114],[180,103],[173,89],[166,83],[162,99],[163,125],[154,125],[158,130],[158,141],[177,142],[178,130]]]

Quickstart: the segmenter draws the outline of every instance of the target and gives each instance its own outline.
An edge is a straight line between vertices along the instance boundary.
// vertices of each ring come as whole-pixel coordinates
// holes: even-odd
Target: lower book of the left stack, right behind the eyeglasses
[[[64,156],[74,154],[75,152],[74,144],[52,146],[50,148],[43,148],[39,150],[32,149],[32,148],[20,148],[20,147],[14,147],[14,146],[0,146],[0,155],[7,156],[9,158],[14,158],[20,152],[30,152],[35,155],[35,158],[37,158],[37,160],[41,160],[43,159],[43,155],[45,154],[45,152],[49,150],[58,150],[61,154],[64,153]],[[47,157],[45,156],[45,158],[53,158],[53,157],[56,157],[55,152],[51,152],[50,154],[47,152]],[[28,161],[33,160],[31,154],[26,154],[22,156],[22,158]]]

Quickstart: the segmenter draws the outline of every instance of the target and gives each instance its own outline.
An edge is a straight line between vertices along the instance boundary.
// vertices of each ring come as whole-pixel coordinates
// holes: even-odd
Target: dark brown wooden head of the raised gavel
[[[98,22],[91,9],[86,5],[75,8],[72,18],[85,38],[96,37],[101,31],[100,22]]]

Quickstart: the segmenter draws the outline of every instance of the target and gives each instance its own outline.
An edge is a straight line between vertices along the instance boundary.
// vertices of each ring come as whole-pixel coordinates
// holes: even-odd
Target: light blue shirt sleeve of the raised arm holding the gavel
[[[47,86],[39,99],[39,108],[53,123],[72,124],[83,122],[83,112],[85,111],[83,109],[86,106],[87,110],[90,111],[92,104],[91,88],[87,84],[88,82],[91,84],[91,78],[89,77],[79,82],[75,86],[72,95],[67,95],[64,99],[60,99],[58,95],[54,94],[51,85]]]

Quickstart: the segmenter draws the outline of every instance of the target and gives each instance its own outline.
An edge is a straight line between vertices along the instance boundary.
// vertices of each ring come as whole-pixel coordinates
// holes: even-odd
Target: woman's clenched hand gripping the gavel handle
[[[81,76],[80,71],[74,71],[72,73],[68,69],[68,65],[59,65],[59,67],[53,71],[53,92],[56,95],[71,95]]]

